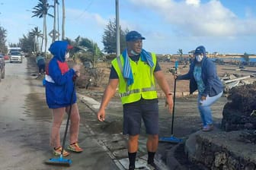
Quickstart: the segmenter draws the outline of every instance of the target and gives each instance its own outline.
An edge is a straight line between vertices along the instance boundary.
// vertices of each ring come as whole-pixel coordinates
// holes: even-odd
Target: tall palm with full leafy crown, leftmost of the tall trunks
[[[32,11],[34,15],[32,17],[43,17],[43,39],[44,39],[44,53],[46,54],[47,47],[47,27],[46,27],[46,15],[53,17],[52,14],[48,14],[49,8],[53,8],[53,5],[49,5],[47,0],[39,0],[37,6],[35,6]]]

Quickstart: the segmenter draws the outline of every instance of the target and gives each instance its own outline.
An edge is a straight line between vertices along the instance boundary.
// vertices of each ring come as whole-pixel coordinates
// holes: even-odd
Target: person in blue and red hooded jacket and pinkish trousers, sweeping
[[[78,146],[78,131],[80,115],[76,103],[73,78],[80,75],[80,65],[74,65],[69,69],[66,59],[69,58],[69,46],[66,41],[56,41],[50,45],[49,51],[53,58],[46,67],[46,103],[53,111],[53,124],[50,134],[50,146],[53,147],[53,154],[59,156],[62,150],[60,143],[59,129],[65,113],[69,112],[72,103],[69,128],[68,150],[80,153],[82,148]],[[72,101],[71,101],[72,99]],[[69,152],[63,151],[62,156],[69,156]]]

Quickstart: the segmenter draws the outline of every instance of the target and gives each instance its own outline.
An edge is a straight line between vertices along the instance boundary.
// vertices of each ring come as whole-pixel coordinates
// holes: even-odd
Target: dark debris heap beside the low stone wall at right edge
[[[256,82],[229,90],[229,102],[224,106],[222,129],[256,130]]]

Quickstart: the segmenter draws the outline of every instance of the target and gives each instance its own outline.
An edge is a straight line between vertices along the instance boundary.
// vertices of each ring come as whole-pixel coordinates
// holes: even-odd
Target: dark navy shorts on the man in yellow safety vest
[[[158,134],[158,102],[155,101],[123,105],[123,134],[140,134],[142,120],[146,134]]]

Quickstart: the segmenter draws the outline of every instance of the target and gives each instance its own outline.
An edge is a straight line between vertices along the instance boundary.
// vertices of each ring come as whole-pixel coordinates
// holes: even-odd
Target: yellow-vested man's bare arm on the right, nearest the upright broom
[[[167,80],[165,79],[165,74],[162,71],[154,72],[155,80],[157,80],[159,87],[163,90],[166,96],[166,104],[168,105],[169,112],[172,113],[173,100],[171,95],[171,90],[168,86]]]

